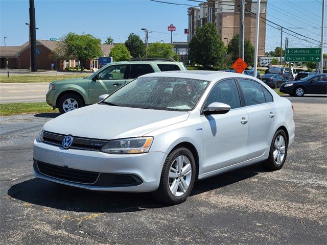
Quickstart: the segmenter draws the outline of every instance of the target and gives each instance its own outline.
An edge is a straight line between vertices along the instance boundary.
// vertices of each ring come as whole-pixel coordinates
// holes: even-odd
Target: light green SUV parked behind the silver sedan
[[[99,102],[99,96],[110,94],[133,79],[158,71],[186,70],[182,62],[169,59],[132,59],[112,62],[89,77],[52,82],[46,103],[60,113]]]

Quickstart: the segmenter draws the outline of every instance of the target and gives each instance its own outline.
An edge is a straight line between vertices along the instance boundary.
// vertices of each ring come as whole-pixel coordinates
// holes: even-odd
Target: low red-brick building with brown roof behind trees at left
[[[49,59],[49,55],[57,46],[58,41],[36,40],[37,49],[37,69],[51,70],[51,64],[54,64],[53,69],[64,69],[65,67],[81,66],[78,60],[65,60],[62,67],[59,61]],[[101,45],[103,57],[108,57],[113,45]],[[99,60],[87,60],[83,64],[84,68],[99,68]],[[0,68],[9,69],[28,69],[30,67],[30,44],[26,42],[21,46],[0,46]]]

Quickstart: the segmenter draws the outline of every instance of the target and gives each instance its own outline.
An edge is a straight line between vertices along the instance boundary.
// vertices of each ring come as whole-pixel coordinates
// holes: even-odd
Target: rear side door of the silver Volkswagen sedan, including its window
[[[262,156],[270,148],[274,132],[276,107],[272,100],[266,101],[264,87],[254,80],[238,79],[248,113],[249,134],[247,160]],[[265,91],[268,92],[269,91]],[[269,93],[270,94],[270,93]]]

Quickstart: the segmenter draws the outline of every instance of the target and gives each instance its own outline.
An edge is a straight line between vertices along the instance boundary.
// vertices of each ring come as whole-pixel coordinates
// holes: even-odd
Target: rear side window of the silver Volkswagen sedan
[[[266,103],[261,84],[249,79],[239,79],[239,82],[243,91],[246,106]]]

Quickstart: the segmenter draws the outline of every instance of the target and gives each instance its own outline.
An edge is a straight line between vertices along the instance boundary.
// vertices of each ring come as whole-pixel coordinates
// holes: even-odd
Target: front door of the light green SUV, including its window
[[[98,72],[99,78],[91,80],[88,85],[88,96],[90,104],[99,102],[99,96],[110,94],[125,84],[126,64],[109,65]]]

